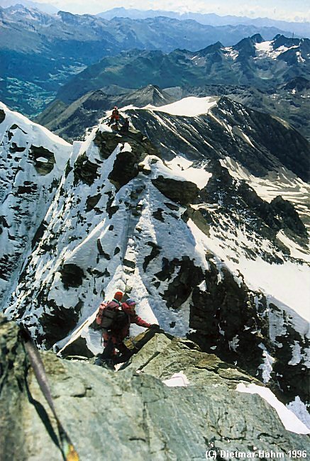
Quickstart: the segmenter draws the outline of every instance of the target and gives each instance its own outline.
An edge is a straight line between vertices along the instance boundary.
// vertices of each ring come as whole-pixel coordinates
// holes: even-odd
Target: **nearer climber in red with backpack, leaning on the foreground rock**
[[[104,340],[104,352],[96,358],[95,365],[106,365],[114,370],[116,363],[129,360],[133,352],[123,343],[128,336],[131,323],[144,328],[159,328],[158,325],[144,321],[135,313],[135,300],[127,299],[121,304],[123,293],[116,291],[114,299],[99,306],[97,318],[101,315],[102,338]],[[102,306],[102,307],[101,307]],[[96,323],[99,320],[96,318]],[[116,349],[119,354],[116,354]]]

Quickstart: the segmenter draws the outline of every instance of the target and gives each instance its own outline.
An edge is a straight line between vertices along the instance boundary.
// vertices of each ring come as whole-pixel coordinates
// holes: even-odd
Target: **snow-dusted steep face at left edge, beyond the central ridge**
[[[72,146],[1,104],[0,303],[31,250]]]

